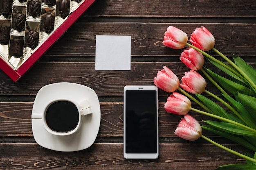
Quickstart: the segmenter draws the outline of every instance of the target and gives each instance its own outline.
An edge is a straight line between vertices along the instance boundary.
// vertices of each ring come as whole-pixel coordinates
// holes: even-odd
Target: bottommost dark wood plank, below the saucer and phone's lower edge
[[[238,145],[225,145],[240,153]],[[78,152],[45,149],[38,144],[0,144],[1,169],[173,169],[213,170],[230,163],[245,163],[212,144],[160,144],[155,160],[127,160],[123,144],[93,144]]]

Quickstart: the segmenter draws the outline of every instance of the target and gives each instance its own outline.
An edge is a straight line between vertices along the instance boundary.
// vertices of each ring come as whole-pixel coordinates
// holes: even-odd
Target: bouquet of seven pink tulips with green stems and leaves
[[[175,135],[186,140],[197,140],[199,137],[202,137],[212,144],[246,159],[247,164],[220,166],[219,170],[255,170],[256,70],[240,57],[233,55],[233,62],[214,48],[215,38],[203,26],[195,29],[191,34],[189,42],[191,44],[188,43],[187,34],[180,29],[173,26],[167,28],[164,34],[164,46],[173,49],[182,49],[188,46],[181,53],[180,60],[191,70],[185,72],[181,82],[166,66],[154,78],[154,83],[157,87],[172,93],[167,98],[164,109],[169,113],[184,115],[184,118],[181,119],[174,132]],[[209,50],[215,51],[227,62],[222,62],[212,57],[207,53]],[[225,72],[229,78],[203,68],[204,59],[207,59],[218,69]],[[207,83],[201,74],[197,72],[198,70],[220,90],[224,100],[206,90]],[[180,91],[180,93],[175,92],[176,90]],[[228,111],[220,107],[216,102],[203,96],[203,92],[223,103],[228,108]],[[191,100],[200,105],[204,111],[191,107]],[[216,118],[216,121],[203,120],[207,125],[201,126],[193,116],[188,114],[190,110]],[[222,146],[202,135],[202,129],[231,139],[252,152],[245,153],[244,155]]]

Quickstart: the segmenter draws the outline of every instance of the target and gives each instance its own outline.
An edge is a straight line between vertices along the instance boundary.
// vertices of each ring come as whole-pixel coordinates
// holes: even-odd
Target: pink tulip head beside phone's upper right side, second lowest
[[[174,113],[177,115],[185,115],[189,112],[191,107],[191,101],[186,96],[173,92],[164,104],[164,109],[168,113]]]

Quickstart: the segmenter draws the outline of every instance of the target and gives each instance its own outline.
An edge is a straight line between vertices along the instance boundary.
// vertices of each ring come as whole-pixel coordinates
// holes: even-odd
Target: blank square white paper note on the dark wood
[[[96,35],[95,70],[130,70],[131,36]]]

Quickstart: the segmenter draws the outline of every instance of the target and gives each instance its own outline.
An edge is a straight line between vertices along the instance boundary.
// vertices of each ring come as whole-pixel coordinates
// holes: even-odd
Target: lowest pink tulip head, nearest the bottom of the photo
[[[193,116],[186,114],[181,118],[174,133],[183,139],[194,141],[202,135],[202,128]]]

